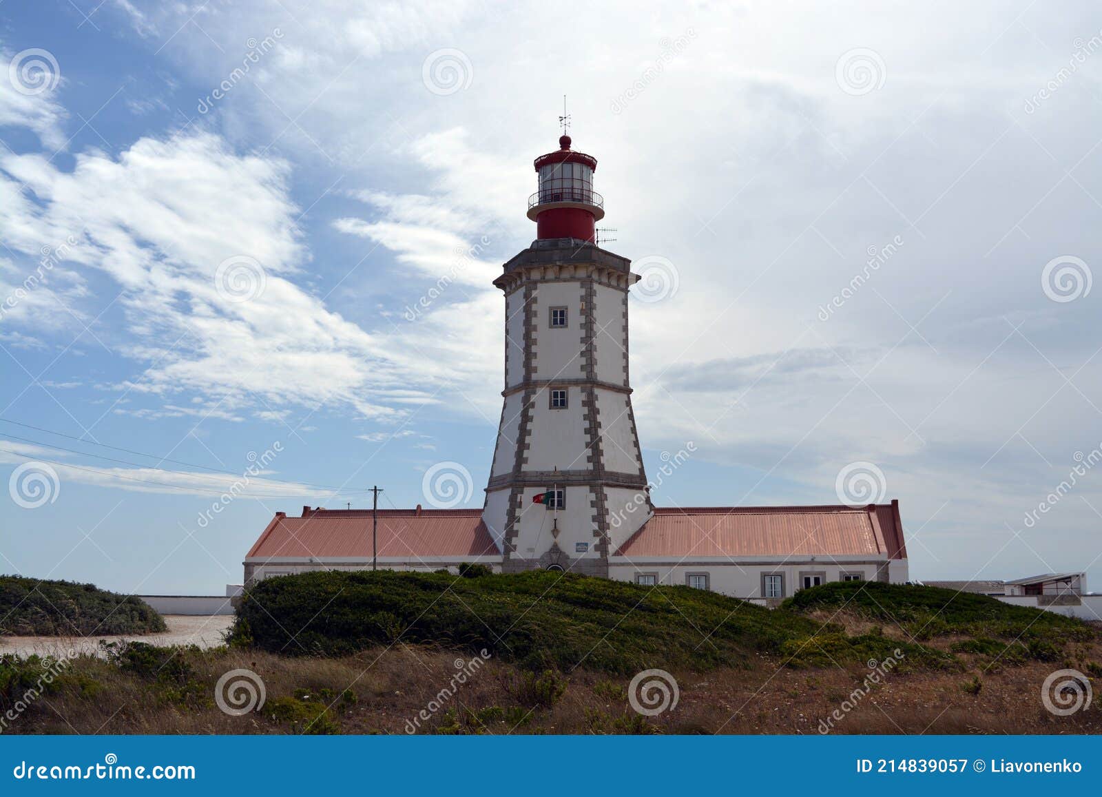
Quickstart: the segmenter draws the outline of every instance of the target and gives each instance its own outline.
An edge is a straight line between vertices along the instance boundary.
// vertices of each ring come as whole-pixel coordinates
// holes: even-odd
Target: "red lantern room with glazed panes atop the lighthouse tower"
[[[597,159],[570,148],[570,136],[559,150],[536,159],[539,191],[528,198],[528,217],[536,237],[594,241],[596,224],[605,217],[605,201],[593,190]]]

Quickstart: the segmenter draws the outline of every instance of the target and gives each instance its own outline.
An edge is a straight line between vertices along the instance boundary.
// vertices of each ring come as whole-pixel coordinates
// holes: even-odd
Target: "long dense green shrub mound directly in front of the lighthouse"
[[[952,666],[943,651],[883,635],[846,635],[796,612],[770,611],[688,586],[644,588],[530,571],[456,579],[445,573],[314,572],[268,579],[238,608],[231,642],[292,655],[346,655],[397,639],[495,657],[525,668],[579,666],[629,674],[649,667],[790,666],[884,658]]]

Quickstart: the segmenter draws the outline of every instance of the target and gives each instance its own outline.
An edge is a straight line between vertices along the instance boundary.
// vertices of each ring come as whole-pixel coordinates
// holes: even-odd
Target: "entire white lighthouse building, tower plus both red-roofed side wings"
[[[778,600],[828,581],[907,580],[889,505],[656,508],[628,379],[630,261],[599,248],[597,161],[571,149],[536,160],[537,239],[505,263],[505,389],[482,513],[379,513],[380,567],[480,561],[688,584]],[[371,516],[305,507],[269,524],[246,583],[316,568],[370,567]],[[367,547],[365,547],[367,546]]]

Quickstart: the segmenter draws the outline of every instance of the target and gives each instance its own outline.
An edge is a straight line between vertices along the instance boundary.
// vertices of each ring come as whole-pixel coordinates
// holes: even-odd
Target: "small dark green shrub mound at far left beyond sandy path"
[[[164,620],[133,595],[95,584],[0,575],[0,636],[89,636],[164,631]]]

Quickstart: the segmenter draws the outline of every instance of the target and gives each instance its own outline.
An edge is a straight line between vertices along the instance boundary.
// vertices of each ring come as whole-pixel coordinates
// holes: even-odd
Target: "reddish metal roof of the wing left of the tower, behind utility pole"
[[[380,557],[497,556],[482,509],[379,509]],[[370,509],[277,513],[248,558],[371,558]]]

